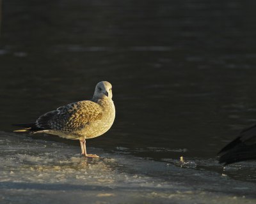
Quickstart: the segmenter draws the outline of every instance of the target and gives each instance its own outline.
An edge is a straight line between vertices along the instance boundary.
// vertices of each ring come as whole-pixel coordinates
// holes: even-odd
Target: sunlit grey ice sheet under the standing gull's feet
[[[113,153],[88,147],[100,158],[85,159],[78,142],[74,146],[4,132],[0,145],[0,203],[256,201],[256,184],[230,179],[225,173],[182,168],[178,161],[123,154],[127,149],[122,147]]]

